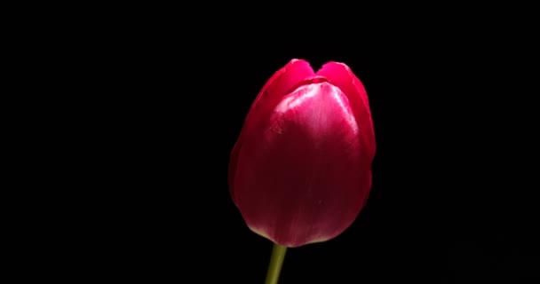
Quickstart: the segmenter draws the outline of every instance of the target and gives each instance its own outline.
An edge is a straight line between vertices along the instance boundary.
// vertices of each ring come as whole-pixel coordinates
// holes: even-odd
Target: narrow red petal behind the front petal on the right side
[[[371,121],[371,111],[366,90],[361,81],[353,74],[351,68],[340,62],[328,62],[317,71],[330,80],[330,83],[338,86],[345,93],[356,117],[356,122],[361,129],[362,142],[369,148],[369,159],[372,160],[375,151],[375,133]]]

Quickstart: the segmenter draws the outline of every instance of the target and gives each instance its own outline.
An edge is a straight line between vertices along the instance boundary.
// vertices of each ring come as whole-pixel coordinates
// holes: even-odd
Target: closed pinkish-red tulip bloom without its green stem
[[[328,241],[366,203],[375,148],[368,97],[351,69],[329,62],[315,73],[293,59],[258,93],[234,145],[233,201],[276,244]]]

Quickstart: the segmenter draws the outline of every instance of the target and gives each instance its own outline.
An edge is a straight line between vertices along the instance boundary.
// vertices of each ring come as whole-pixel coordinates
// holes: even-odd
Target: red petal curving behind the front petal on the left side
[[[292,59],[290,62],[274,73],[272,77],[265,83],[257,98],[250,107],[250,111],[246,116],[240,137],[234,144],[233,151],[229,162],[228,169],[228,184],[229,192],[234,203],[234,172],[236,171],[236,163],[238,160],[238,149],[242,146],[242,140],[246,129],[258,127],[262,117],[269,115],[278,104],[280,99],[292,89],[298,86],[298,83],[303,82],[306,78],[314,75],[313,68],[308,62],[302,59]]]

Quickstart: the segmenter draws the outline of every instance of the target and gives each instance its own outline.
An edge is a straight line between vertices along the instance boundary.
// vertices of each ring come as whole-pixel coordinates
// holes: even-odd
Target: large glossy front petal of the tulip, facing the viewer
[[[350,105],[333,84],[304,84],[245,129],[232,182],[253,232],[292,248],[328,241],[353,223],[371,173]]]

